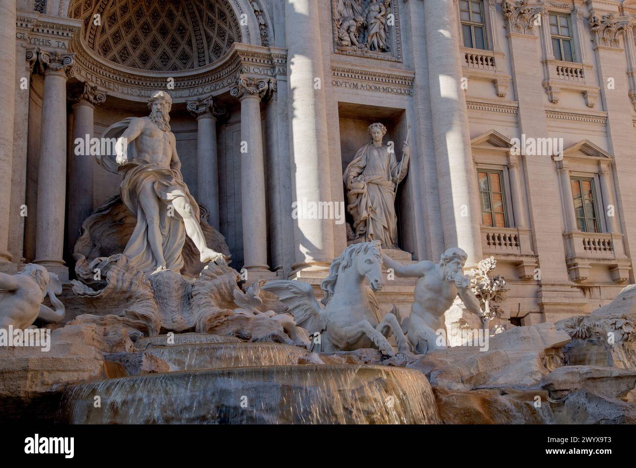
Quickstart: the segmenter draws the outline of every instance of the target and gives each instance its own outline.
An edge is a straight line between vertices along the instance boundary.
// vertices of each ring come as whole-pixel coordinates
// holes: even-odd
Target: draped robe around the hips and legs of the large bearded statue
[[[133,117],[125,118],[121,122],[111,125],[104,138],[119,138],[126,131]],[[190,195],[188,186],[183,181],[180,171],[160,167],[154,162],[141,159],[137,155],[135,140],[128,143],[128,162],[117,164],[113,154],[98,155],[97,162],[107,171],[119,174],[121,177],[121,200],[137,217],[135,230],[128,239],[123,254],[128,262],[144,272],[154,271],[157,260],[148,242],[148,222],[139,203],[139,194],[146,184],[152,184],[159,203],[159,229],[162,236],[163,257],[167,269],[179,273],[183,268],[181,251],[186,241],[186,228],[176,210],[172,208],[169,216],[169,206],[176,196],[184,196],[190,202],[195,219],[199,219],[198,204]]]

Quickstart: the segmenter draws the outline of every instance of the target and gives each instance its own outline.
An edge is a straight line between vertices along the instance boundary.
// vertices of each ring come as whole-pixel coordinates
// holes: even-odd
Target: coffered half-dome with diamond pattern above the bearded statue
[[[142,70],[203,67],[241,41],[226,0],[75,0],[70,15],[84,20],[87,48]]]

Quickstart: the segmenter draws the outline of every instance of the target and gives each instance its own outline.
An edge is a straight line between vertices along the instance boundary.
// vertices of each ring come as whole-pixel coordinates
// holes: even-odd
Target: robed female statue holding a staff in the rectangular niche
[[[347,211],[354,218],[353,229],[366,241],[380,241],[383,248],[397,248],[397,185],[408,171],[409,149],[404,141],[398,163],[392,147],[382,138],[387,129],[380,123],[369,125],[371,141],[356,153],[343,180],[347,188]]]

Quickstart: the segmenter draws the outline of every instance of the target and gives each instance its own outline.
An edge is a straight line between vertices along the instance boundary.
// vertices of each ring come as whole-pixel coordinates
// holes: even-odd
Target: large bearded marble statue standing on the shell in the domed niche
[[[197,202],[181,174],[176,139],[170,131],[172,99],[159,91],[148,101],[149,117],[129,117],[111,125],[104,138],[116,138],[116,154],[98,155],[107,171],[120,174],[120,195],[137,217],[123,252],[131,266],[144,273],[183,267],[187,236],[202,263],[223,257],[205,243]]]

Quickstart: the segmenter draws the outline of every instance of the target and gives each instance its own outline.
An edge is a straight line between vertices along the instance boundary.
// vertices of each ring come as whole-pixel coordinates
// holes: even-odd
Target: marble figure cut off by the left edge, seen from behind
[[[30,263],[18,274],[0,273],[0,328],[26,329],[37,318],[45,322],[59,322],[64,318],[64,304],[55,297],[62,294],[62,283],[57,274]],[[42,304],[48,295],[52,310]]]

